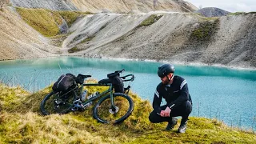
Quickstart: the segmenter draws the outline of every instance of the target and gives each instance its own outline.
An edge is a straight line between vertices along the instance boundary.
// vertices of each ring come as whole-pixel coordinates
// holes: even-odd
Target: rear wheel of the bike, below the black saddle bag
[[[43,98],[40,110],[42,114],[66,114],[73,107],[74,94],[63,94],[63,92],[51,92]]]

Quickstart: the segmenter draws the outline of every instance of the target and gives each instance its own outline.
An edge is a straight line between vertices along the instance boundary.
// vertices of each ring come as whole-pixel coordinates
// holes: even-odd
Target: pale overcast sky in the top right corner
[[[194,6],[218,7],[222,10],[237,12],[237,11],[256,11],[256,0],[185,0],[192,3]]]

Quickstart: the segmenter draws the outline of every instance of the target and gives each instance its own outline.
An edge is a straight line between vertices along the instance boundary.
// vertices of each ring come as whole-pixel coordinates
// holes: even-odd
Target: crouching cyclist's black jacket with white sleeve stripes
[[[166,99],[170,109],[181,105],[182,102],[190,101],[192,103],[186,80],[177,75],[174,76],[174,82],[170,86],[166,86],[162,82],[157,86],[154,93],[153,108],[158,114],[161,112],[162,98]]]

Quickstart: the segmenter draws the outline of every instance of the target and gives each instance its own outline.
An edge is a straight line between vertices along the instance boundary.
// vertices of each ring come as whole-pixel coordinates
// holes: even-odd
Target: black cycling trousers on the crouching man
[[[161,106],[162,110],[166,110],[167,105]],[[157,114],[156,111],[152,111],[150,113],[150,122],[158,123],[158,122],[170,122],[171,117],[182,116],[182,122],[186,122],[190,113],[192,111],[192,105],[189,101],[183,102],[180,106],[175,106],[170,111],[170,117],[161,117]]]

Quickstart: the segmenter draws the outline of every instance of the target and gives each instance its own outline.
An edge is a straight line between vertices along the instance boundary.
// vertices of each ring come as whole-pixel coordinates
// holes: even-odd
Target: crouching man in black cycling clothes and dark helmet
[[[158,76],[161,83],[158,84],[154,93],[153,108],[150,113],[150,122],[168,122],[166,130],[172,130],[178,119],[174,117],[182,116],[178,133],[186,132],[186,123],[192,111],[192,101],[190,98],[186,80],[177,75],[174,76],[174,66],[163,64],[158,67]],[[160,106],[162,98],[166,99],[166,105]]]

